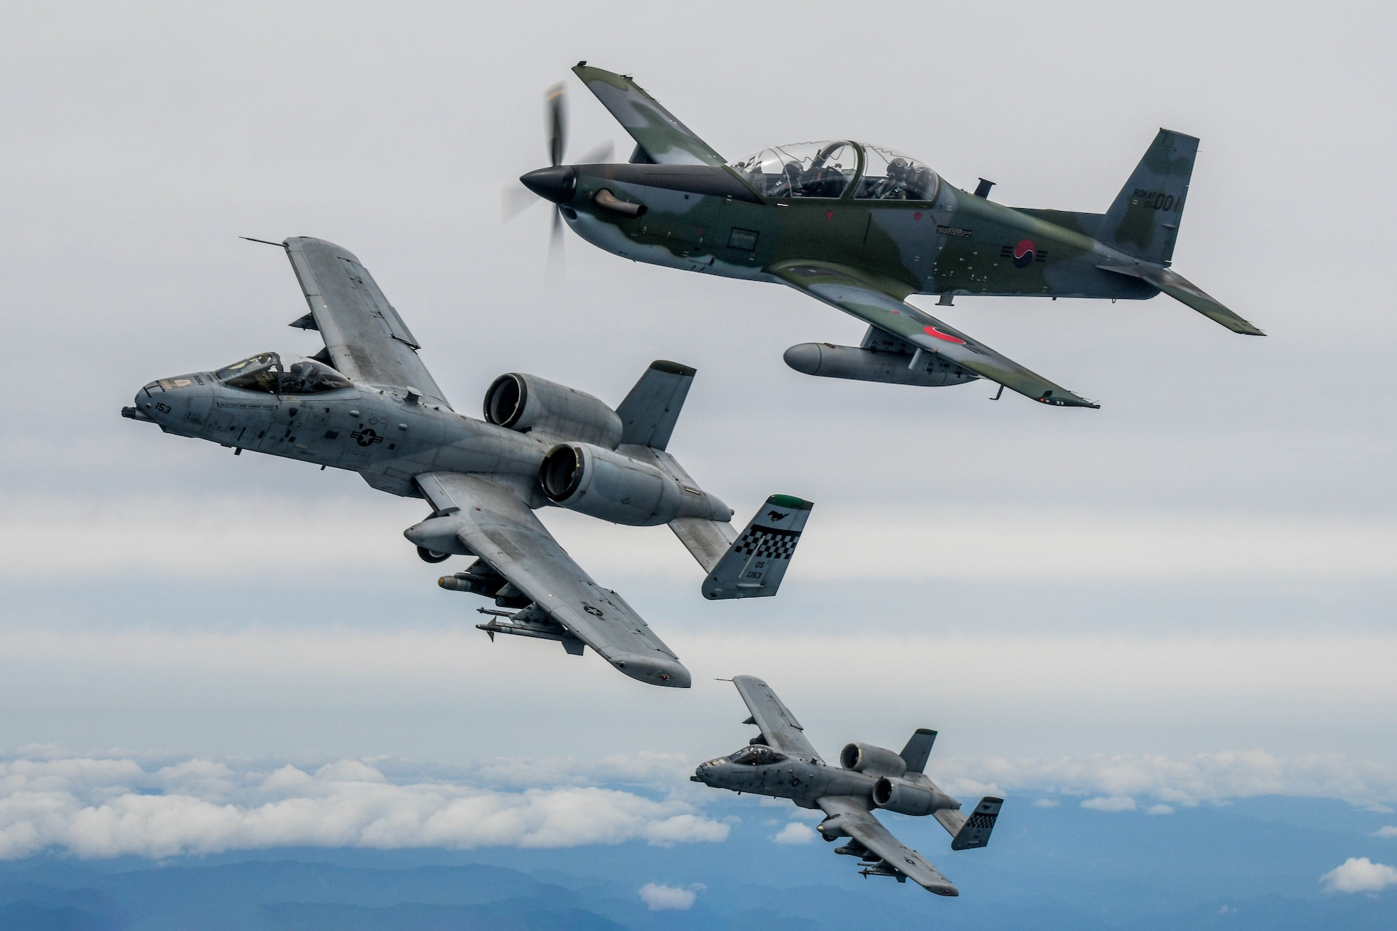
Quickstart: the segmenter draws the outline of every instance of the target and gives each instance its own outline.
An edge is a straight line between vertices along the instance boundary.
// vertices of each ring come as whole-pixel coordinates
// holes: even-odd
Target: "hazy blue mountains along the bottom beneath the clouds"
[[[1010,798],[986,850],[951,853],[926,819],[895,829],[953,876],[958,899],[862,879],[830,844],[775,844],[793,815],[743,798],[721,844],[564,849],[263,850],[151,863],[0,864],[0,931],[1391,931],[1397,888],[1327,893],[1347,857],[1397,863],[1391,815],[1259,798],[1172,815],[1039,808]],[[647,883],[694,892],[651,910]]]

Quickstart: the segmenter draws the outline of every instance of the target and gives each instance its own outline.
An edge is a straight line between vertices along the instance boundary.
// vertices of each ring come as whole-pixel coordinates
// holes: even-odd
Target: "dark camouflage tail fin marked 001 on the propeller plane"
[[[1102,218],[1097,239],[1136,259],[1168,266],[1197,151],[1196,137],[1160,130]]]

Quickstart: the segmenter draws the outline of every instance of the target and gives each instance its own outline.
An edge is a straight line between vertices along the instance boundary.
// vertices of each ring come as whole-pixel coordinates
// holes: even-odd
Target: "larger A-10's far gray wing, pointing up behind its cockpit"
[[[320,330],[331,365],[355,382],[414,389],[446,404],[418,358],[418,341],[408,324],[352,252],[310,236],[292,236],[282,246],[314,322],[298,320],[292,326]]]

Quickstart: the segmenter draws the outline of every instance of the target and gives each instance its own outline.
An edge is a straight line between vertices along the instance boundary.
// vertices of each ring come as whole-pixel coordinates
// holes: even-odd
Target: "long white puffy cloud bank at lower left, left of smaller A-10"
[[[0,763],[0,858],[170,857],[260,847],[571,847],[719,843],[729,826],[678,797],[597,786],[502,791],[390,781],[360,760],[306,772],[204,759],[21,758]]]

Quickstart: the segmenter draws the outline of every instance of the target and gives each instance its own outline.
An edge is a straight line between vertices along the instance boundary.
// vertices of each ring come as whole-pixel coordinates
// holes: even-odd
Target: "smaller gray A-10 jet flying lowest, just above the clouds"
[[[761,734],[738,752],[700,765],[690,776],[693,781],[819,808],[826,818],[816,830],[826,840],[848,837],[849,843],[834,853],[858,857],[865,876],[894,876],[898,882],[911,878],[939,896],[960,895],[950,879],[873,816],[875,808],[932,815],[951,835],[951,850],[989,844],[1004,800],[985,797],[967,818],[960,802],[922,772],[936,731],[918,730],[901,753],[849,744],[840,752],[835,769],[814,752],[805,728],[770,685],[752,675],[733,677],[732,684],[752,712],[743,724],[756,724]]]

